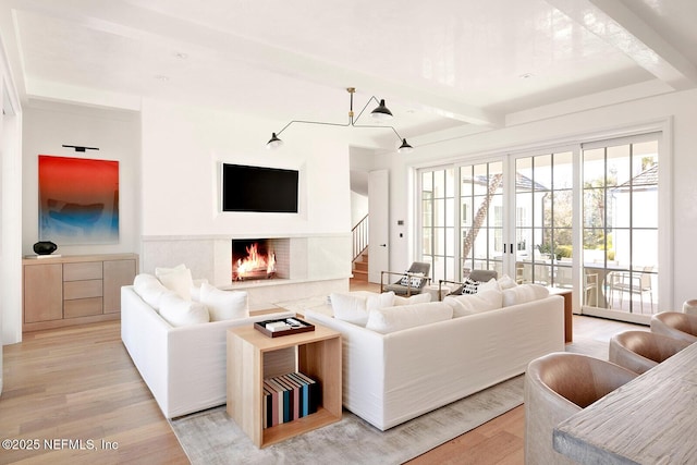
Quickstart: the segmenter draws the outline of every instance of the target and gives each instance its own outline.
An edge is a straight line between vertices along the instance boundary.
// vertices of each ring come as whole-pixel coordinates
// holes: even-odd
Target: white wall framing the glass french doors
[[[488,154],[505,154],[521,148],[542,147],[555,142],[587,140],[591,134],[621,134],[624,129],[644,125],[647,122],[672,119],[672,198],[673,236],[668,241],[672,257],[672,298],[661,301],[678,308],[687,298],[697,295],[695,289],[695,264],[697,249],[694,232],[697,230],[697,90],[670,94],[558,118],[518,124],[482,134],[435,143],[424,147],[414,144],[416,150],[407,156],[390,154],[376,157],[375,169],[391,170],[390,211],[394,218],[407,218],[409,235],[414,228],[414,194],[411,188],[416,167],[438,164],[454,159],[467,159]],[[669,134],[670,136],[671,134]],[[665,160],[661,155],[661,160]],[[665,163],[661,161],[663,167]],[[396,227],[391,225],[390,268],[405,269],[414,256],[414,241],[399,238]],[[667,274],[667,276],[668,276]],[[662,309],[670,309],[668,307]]]

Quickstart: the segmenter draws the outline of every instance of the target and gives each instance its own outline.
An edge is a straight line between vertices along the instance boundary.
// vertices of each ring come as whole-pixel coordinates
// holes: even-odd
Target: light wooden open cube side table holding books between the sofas
[[[228,330],[228,415],[264,448],[341,420],[341,333],[315,325],[315,331],[269,338],[253,326]],[[320,384],[317,412],[264,428],[265,378],[301,371]]]

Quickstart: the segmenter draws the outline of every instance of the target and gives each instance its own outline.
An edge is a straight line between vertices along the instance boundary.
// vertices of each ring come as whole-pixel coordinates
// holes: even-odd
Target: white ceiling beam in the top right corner
[[[697,68],[617,0],[547,0],[675,90],[697,85]]]

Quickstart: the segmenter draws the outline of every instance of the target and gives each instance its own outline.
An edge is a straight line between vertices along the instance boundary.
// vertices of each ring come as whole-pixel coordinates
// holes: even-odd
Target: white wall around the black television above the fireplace
[[[293,125],[267,150],[284,123],[152,100],[142,119],[144,236],[351,231],[348,148],[333,131]],[[221,162],[299,170],[299,213],[221,212]]]

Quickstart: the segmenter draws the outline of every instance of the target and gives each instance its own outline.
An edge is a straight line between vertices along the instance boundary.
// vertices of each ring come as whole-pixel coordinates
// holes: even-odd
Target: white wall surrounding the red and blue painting
[[[38,237],[38,156],[89,158],[119,161],[119,243],[61,245],[57,254],[137,253],[139,117],[134,112],[64,103],[37,102],[24,111],[23,134],[22,253],[34,254]],[[98,147],[76,152],[62,145]],[[50,238],[49,238],[50,240]]]

